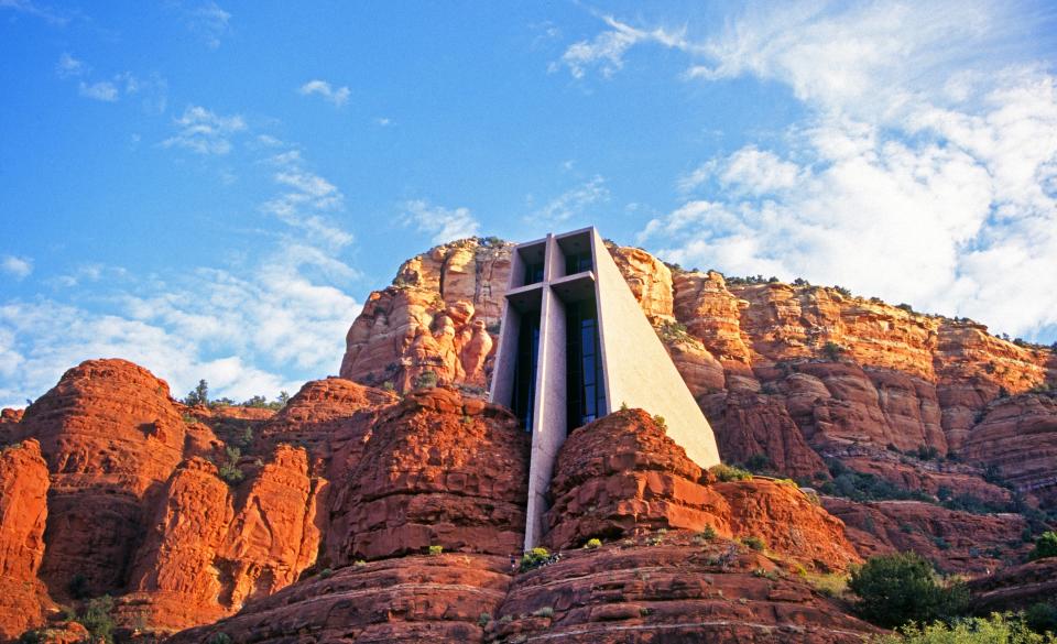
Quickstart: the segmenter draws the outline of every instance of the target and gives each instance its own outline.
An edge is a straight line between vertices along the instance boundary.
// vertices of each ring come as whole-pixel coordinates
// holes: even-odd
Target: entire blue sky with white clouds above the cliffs
[[[1057,340],[1055,10],[0,0],[0,405],[335,373],[468,234],[599,226]]]

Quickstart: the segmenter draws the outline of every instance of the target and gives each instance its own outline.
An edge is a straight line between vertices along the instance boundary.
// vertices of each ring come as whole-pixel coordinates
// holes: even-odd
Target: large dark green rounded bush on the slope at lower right
[[[933,565],[916,553],[871,557],[851,570],[848,588],[859,596],[859,614],[886,629],[949,619],[969,604],[963,583],[942,585]]]

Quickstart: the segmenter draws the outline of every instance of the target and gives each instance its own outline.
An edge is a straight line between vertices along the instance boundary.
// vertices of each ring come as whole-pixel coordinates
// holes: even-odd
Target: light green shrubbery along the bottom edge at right
[[[911,624],[900,634],[874,640],[879,644],[1054,644],[1057,637],[1033,633],[1020,616],[994,613],[990,618],[958,620],[954,624]]]

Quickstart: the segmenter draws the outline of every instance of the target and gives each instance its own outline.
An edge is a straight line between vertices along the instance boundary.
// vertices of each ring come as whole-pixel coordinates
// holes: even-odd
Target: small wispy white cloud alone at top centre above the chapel
[[[562,55],[560,62],[551,64],[551,72],[562,65],[569,69],[574,78],[584,78],[588,69],[597,67],[603,77],[609,78],[624,66],[624,54],[632,46],[640,43],[660,44],[667,48],[696,51],[697,47],[688,42],[682,32],[671,32],[661,28],[642,30],[620,22],[611,15],[602,17],[609,25],[593,39],[579,41],[569,45]]]

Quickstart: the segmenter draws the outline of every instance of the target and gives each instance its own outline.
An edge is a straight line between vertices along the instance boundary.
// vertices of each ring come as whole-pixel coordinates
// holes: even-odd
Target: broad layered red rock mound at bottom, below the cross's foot
[[[876,630],[771,559],[722,539],[571,552],[519,576],[492,641],[861,642]]]

